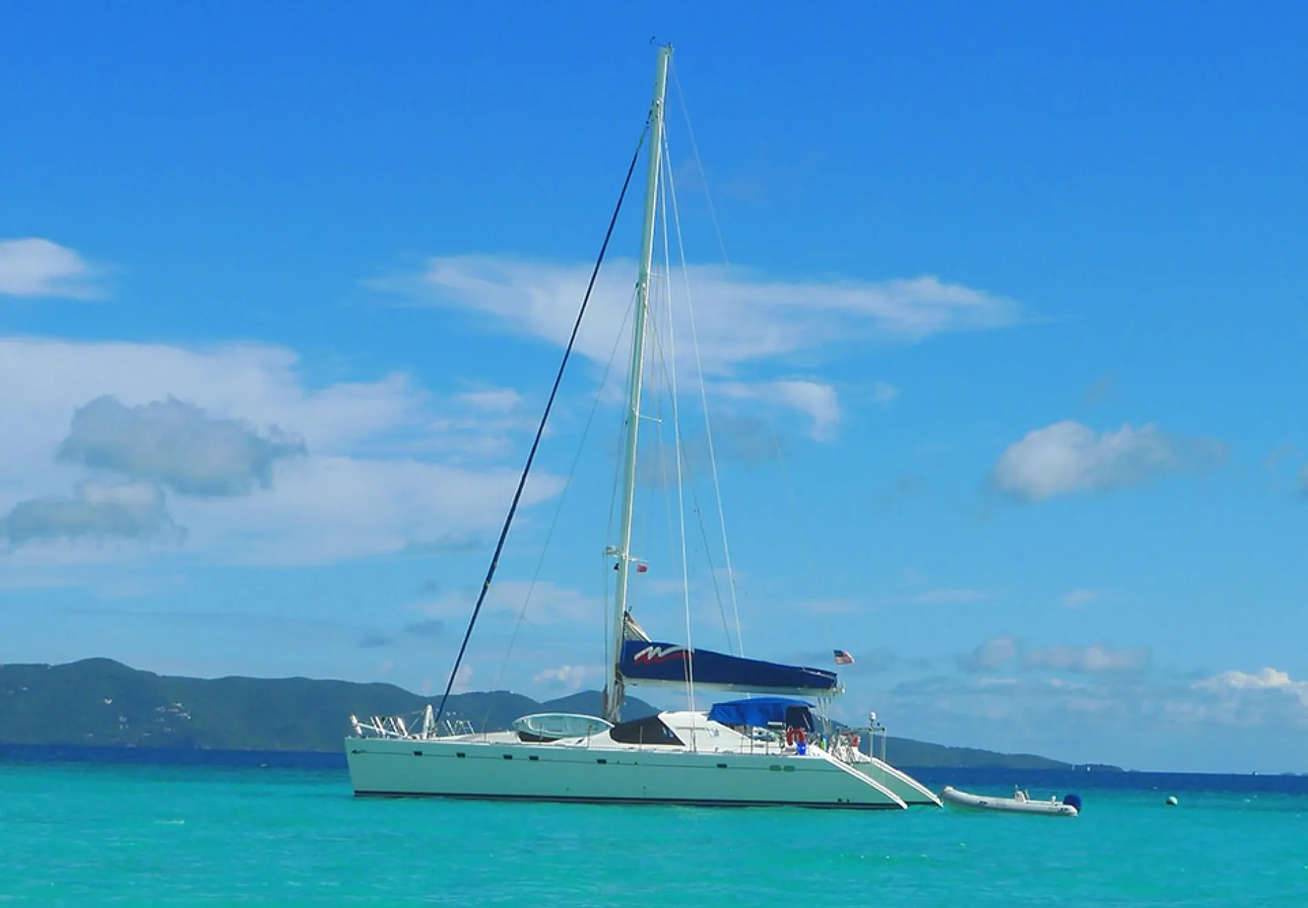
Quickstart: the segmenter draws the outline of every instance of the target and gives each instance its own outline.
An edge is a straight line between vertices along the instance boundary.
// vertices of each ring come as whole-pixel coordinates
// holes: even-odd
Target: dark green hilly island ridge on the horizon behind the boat
[[[310,678],[183,678],[133,669],[111,658],[67,665],[0,665],[0,743],[175,750],[341,753],[349,716],[403,716],[439,698],[395,685]],[[509,691],[454,694],[446,715],[477,730],[502,730],[531,712],[599,712],[598,691],[539,703]],[[628,698],[624,719],[658,709]],[[889,737],[896,766],[1117,771],[1033,754]]]

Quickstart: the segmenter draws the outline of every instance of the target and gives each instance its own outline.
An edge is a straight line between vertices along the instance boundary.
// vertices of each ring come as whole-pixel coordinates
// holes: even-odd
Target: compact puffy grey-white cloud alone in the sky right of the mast
[[[1082,491],[1143,485],[1171,470],[1220,462],[1226,447],[1213,439],[1179,439],[1155,426],[1095,432],[1076,422],[1036,429],[1003,452],[991,473],[995,486],[1028,502]]]

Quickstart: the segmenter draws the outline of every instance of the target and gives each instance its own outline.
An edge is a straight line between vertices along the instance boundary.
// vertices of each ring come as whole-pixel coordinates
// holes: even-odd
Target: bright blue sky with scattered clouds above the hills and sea
[[[1305,17],[9,4],[0,660],[439,689],[658,37],[748,652],[910,737],[1308,770]],[[602,683],[637,227],[467,687]]]

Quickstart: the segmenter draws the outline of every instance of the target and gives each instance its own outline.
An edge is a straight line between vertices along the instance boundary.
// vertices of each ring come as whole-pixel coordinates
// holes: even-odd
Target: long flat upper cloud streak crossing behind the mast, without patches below
[[[370,286],[411,299],[481,312],[514,333],[562,345],[590,277],[589,267],[509,256],[443,256],[424,273]],[[600,274],[577,349],[607,363],[632,298],[636,267],[611,260]],[[705,370],[812,350],[833,341],[882,337],[917,341],[954,331],[1016,321],[1015,303],[935,277],[882,282],[794,282],[751,277],[736,268],[689,269]],[[680,287],[680,274],[675,287]],[[691,355],[688,325],[676,325],[679,355]]]

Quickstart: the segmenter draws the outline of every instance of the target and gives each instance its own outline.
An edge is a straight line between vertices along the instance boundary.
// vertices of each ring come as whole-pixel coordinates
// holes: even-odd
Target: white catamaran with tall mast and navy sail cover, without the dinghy
[[[629,575],[641,571],[630,546],[671,54],[671,47],[659,48],[649,119],[645,217],[619,487],[621,515],[617,543],[607,550],[616,571],[616,593],[604,717],[542,713],[523,716],[506,732],[479,733],[466,721],[441,721],[441,713],[430,705],[413,726],[399,717],[361,721],[352,716],[354,734],[345,738],[345,754],[356,794],[846,809],[940,803],[906,773],[863,754],[858,732],[833,730],[820,717],[815,720],[812,704],[793,699],[823,700],[838,694],[835,672],[650,640],[630,617]],[[530,465],[531,457],[528,470]],[[500,546],[515,507],[517,499]],[[483,598],[498,554],[497,547]],[[706,712],[661,712],[624,722],[620,708],[628,683],[763,696],[717,703]]]

